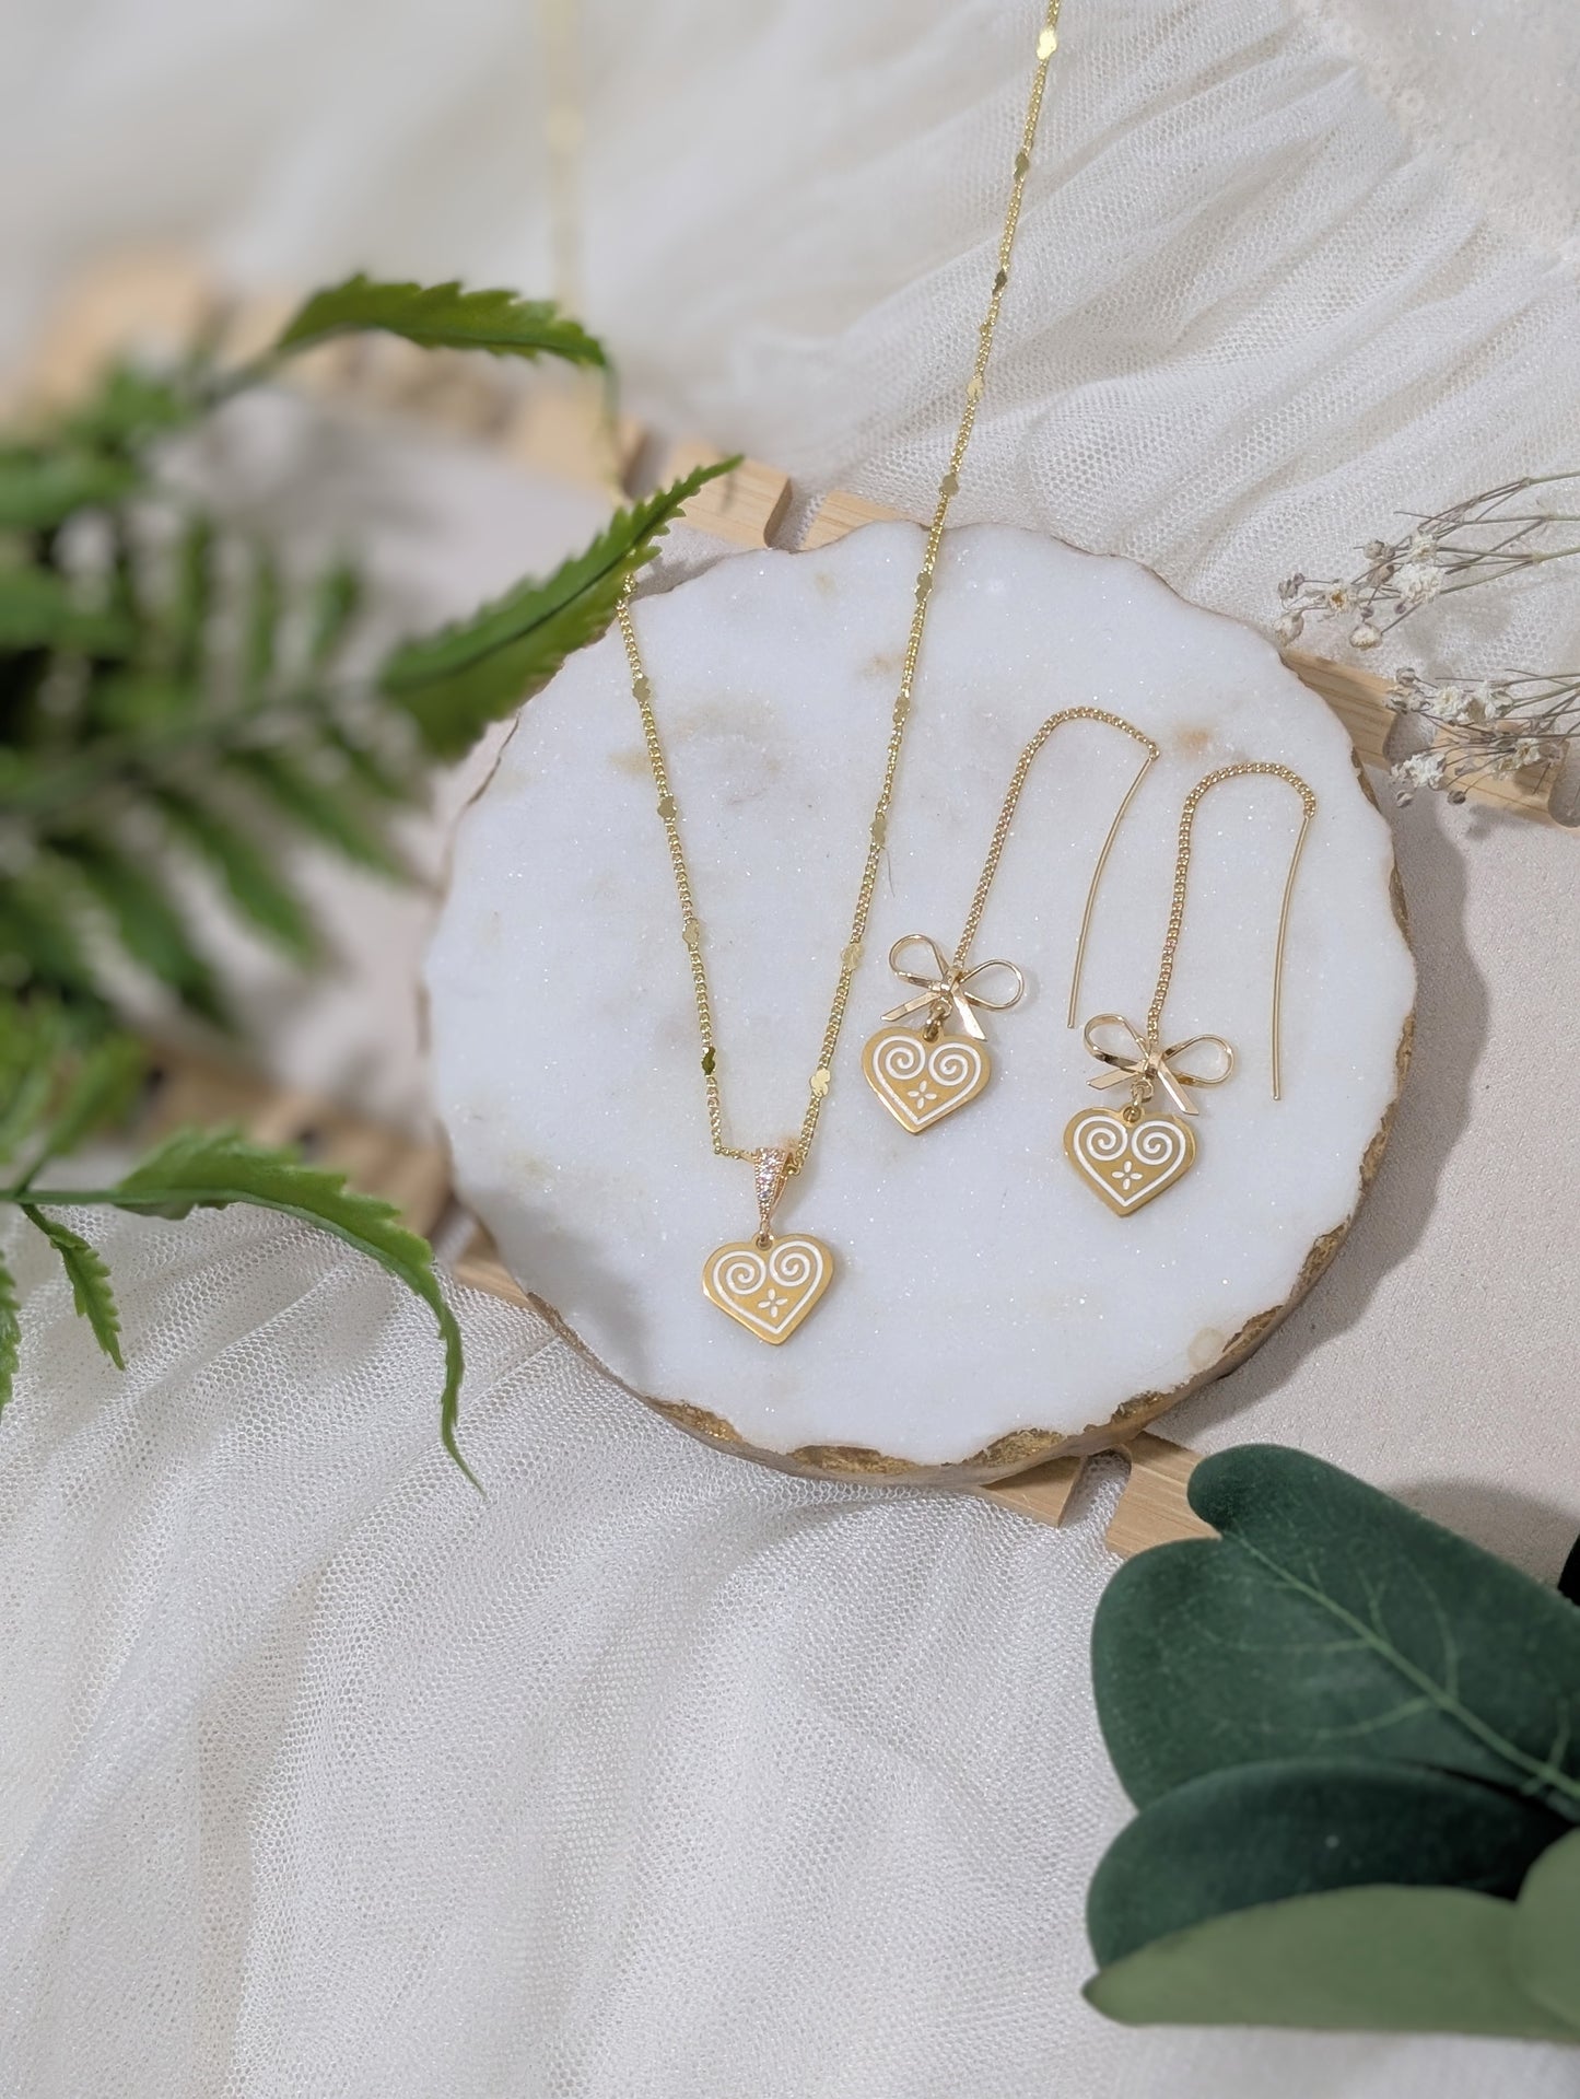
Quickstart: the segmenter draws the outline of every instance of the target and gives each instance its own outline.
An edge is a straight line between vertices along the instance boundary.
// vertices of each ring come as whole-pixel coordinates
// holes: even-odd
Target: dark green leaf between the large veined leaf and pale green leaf
[[[1299,1759],[1207,1772],[1144,1807],[1087,1891],[1104,1967],[1225,1910],[1368,1881],[1513,1895],[1570,1828],[1446,1772]]]

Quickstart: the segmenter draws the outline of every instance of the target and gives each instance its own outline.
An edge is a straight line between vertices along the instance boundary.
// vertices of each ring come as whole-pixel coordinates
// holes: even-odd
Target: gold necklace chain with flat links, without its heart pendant
[[[1043,90],[1047,86],[1047,69],[1058,50],[1060,29],[1060,0],[1047,0],[1047,13],[1043,17],[1043,29],[1037,38],[1037,67],[1032,71],[1032,86],[1026,99],[1026,122],[1020,130],[1020,151],[1013,162],[1013,181],[1009,185],[1009,208],[1005,210],[1003,231],[999,233],[999,267],[992,277],[992,290],[988,292],[988,311],[978,327],[976,359],[972,363],[972,378],[965,382],[965,407],[961,411],[959,430],[955,432],[955,443],[948,453],[948,466],[942,481],[938,483],[938,500],[934,504],[932,525],[927,527],[927,546],[921,556],[921,573],[917,575],[917,605],[911,615],[911,636],[904,649],[904,667],[900,672],[900,691],[894,699],[894,714],[890,720],[890,741],[883,756],[883,783],[877,791],[877,802],[873,806],[873,819],[867,833],[867,863],[862,867],[860,888],[856,890],[856,909],[850,919],[850,938],[839,951],[839,978],[833,991],[833,1003],[829,1008],[829,1022],[823,1029],[823,1043],[818,1045],[818,1062],[808,1085],[806,1115],[802,1117],[802,1127],[785,1163],[785,1171],[799,1173],[806,1165],[806,1157],[812,1148],[812,1138],[818,1129],[818,1117],[823,1115],[823,1102],[829,1096],[829,1085],[833,1079],[833,1054],[839,1043],[839,1031],[846,1022],[846,1008],[850,1003],[850,984],[856,976],[856,968],[862,957],[862,945],[867,938],[867,919],[873,909],[873,890],[877,888],[877,871],[883,863],[883,846],[888,838],[888,817],[890,802],[894,798],[894,777],[900,768],[900,751],[904,749],[904,730],[911,718],[911,686],[917,676],[917,661],[921,657],[921,636],[927,626],[927,600],[932,596],[934,569],[938,567],[938,548],[944,537],[944,521],[948,518],[948,506],[955,500],[961,485],[961,466],[965,462],[965,449],[972,443],[972,428],[976,424],[978,403],[982,401],[982,390],[986,382],[988,357],[992,353],[992,336],[999,325],[999,306],[1003,304],[1003,294],[1009,283],[1009,256],[1016,246],[1016,227],[1020,222],[1020,204],[1026,191],[1026,176],[1032,164],[1032,145],[1037,139],[1037,120],[1043,111]],[[674,789],[669,785],[669,768],[663,758],[663,743],[659,737],[659,722],[653,714],[653,686],[642,667],[642,651],[636,640],[636,626],[632,621],[632,590],[627,586],[625,596],[619,605],[619,630],[625,640],[625,661],[632,672],[632,695],[642,714],[642,735],[648,747],[648,764],[653,766],[653,785],[659,796],[659,817],[663,819],[665,838],[669,842],[669,865],[676,877],[676,896],[680,900],[680,938],[686,945],[686,955],[690,959],[690,982],[697,1001],[697,1026],[703,1037],[703,1081],[707,1085],[707,1123],[713,1138],[713,1150],[720,1159],[747,1159],[757,1161],[760,1152],[755,1148],[745,1150],[734,1144],[724,1142],[724,1102],[720,1096],[718,1077],[718,1047],[713,1041],[713,999],[707,989],[707,961],[703,959],[703,926],[697,917],[697,903],[692,896],[690,873],[686,869],[686,850],[680,838],[680,812],[676,808]]]

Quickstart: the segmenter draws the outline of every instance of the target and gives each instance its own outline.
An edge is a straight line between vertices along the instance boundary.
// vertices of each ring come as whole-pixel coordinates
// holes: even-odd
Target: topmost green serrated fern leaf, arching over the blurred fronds
[[[602,344],[552,300],[514,292],[464,292],[460,283],[376,283],[357,275],[315,292],[292,319],[273,355],[306,351],[332,336],[376,327],[426,351],[493,351],[495,357],[564,357],[602,365]]]

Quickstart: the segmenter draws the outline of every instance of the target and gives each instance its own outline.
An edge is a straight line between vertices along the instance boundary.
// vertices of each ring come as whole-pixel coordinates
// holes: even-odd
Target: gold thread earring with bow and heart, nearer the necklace
[[[1135,779],[1125,789],[1125,800],[1118,804],[1114,821],[1108,825],[1108,838],[1102,844],[1097,865],[1091,873],[1087,907],[1081,917],[1081,938],[1076,940],[1074,951],[1074,972],[1070,976],[1068,1024],[1074,1026],[1081,970],[1087,955],[1087,934],[1091,930],[1091,909],[1097,898],[1097,884],[1102,882],[1104,867],[1108,865],[1108,854],[1114,850],[1114,838],[1125,821],[1125,812],[1135,800],[1148,768],[1158,756],[1158,745],[1152,737],[1144,735],[1133,722],[1127,722],[1118,714],[1104,714],[1102,707],[1064,707],[1060,714],[1049,714],[1026,749],[1020,754],[1016,770],[1009,777],[1009,789],[1003,798],[999,821],[995,823],[992,838],[988,840],[988,856],[982,863],[976,894],[972,896],[972,909],[965,913],[965,930],[961,932],[953,959],[946,959],[942,947],[932,938],[932,934],[925,932],[909,932],[890,949],[890,970],[894,970],[902,984],[913,987],[917,995],[883,1014],[885,1026],[869,1039],[860,1056],[860,1068],[867,1073],[867,1083],[890,1110],[900,1129],[906,1129],[913,1138],[921,1136],[923,1129],[932,1129],[934,1123],[942,1123],[946,1115],[963,1108],[967,1100],[976,1100],[992,1077],[986,1035],[976,1016],[978,1012],[1009,1012],[1011,1005],[1020,1003],[1026,991],[1026,978],[1013,961],[978,961],[974,968],[967,968],[967,961],[972,957],[976,930],[982,924],[982,911],[988,903],[992,877],[999,873],[999,861],[1003,858],[1003,848],[1009,840],[1009,825],[1016,821],[1020,791],[1026,785],[1032,764],[1037,762],[1037,754],[1066,722],[1102,722],[1108,728],[1123,730],[1146,751]],[[906,968],[906,955],[915,949],[923,949],[927,959],[921,968]],[[999,993],[990,989],[990,972],[1001,972],[999,980],[1003,989]],[[925,1014],[919,1029],[902,1024],[913,1014]],[[951,1018],[959,1022],[959,1035],[944,1035],[944,1026]]]

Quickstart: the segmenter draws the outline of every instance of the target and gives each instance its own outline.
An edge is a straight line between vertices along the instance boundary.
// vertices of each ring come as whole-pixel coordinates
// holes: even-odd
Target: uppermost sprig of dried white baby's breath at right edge
[[[1307,619],[1343,619],[1351,649],[1376,649],[1402,619],[1435,598],[1580,554],[1574,531],[1555,531],[1580,525],[1580,512],[1555,508],[1530,493],[1572,481],[1580,481],[1580,468],[1523,474],[1431,516],[1414,516],[1402,537],[1370,539],[1364,548],[1366,567],[1347,579],[1284,577],[1278,586],[1278,640],[1299,640]],[[1555,539],[1576,544],[1553,544]]]

